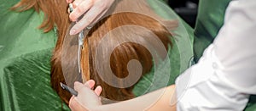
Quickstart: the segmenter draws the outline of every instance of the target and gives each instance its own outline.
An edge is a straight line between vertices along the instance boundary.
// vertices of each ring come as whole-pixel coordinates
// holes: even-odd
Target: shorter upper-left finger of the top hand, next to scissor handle
[[[93,0],[84,0],[79,3],[76,8],[74,8],[73,12],[69,14],[69,18],[73,21],[79,19],[79,17],[87,12],[93,5]]]

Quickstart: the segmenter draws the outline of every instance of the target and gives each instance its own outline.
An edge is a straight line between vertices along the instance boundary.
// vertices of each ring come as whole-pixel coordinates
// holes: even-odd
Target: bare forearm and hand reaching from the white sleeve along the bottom
[[[87,84],[87,83],[85,83]],[[72,97],[69,101],[69,107],[73,111],[102,111],[102,110],[170,110],[175,111],[176,105],[171,104],[171,99],[175,100],[175,86],[167,86],[155,92],[150,92],[144,96],[131,100],[102,105],[97,95],[97,90],[90,90],[90,86],[76,82],[75,90],[79,92],[78,97]],[[157,98],[157,99],[155,99]],[[175,102],[175,101],[173,101]]]

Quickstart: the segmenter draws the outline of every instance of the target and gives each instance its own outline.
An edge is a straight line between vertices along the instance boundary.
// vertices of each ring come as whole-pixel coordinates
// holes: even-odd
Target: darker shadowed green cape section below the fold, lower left
[[[27,53],[3,69],[3,111],[61,110],[61,99],[49,85],[52,48]],[[4,94],[5,93],[5,94]],[[64,104],[64,103],[63,103]],[[68,109],[65,105],[63,109]]]

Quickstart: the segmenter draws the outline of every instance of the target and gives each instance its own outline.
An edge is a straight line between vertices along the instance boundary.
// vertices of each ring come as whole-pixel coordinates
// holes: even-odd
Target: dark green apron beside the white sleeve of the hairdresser
[[[203,51],[218,35],[224,24],[224,14],[231,0],[200,0],[195,25],[194,55],[197,62]],[[250,97],[246,111],[256,110],[256,96]]]

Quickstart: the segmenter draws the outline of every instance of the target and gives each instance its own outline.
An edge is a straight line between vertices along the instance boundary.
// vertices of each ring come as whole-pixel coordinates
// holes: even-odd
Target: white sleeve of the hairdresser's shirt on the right
[[[242,110],[256,94],[256,1],[230,2],[203,57],[176,80],[177,110]]]

